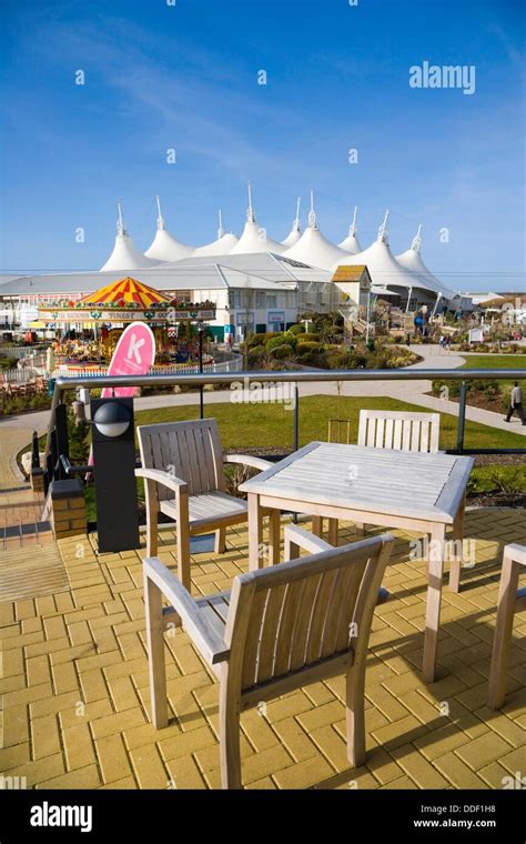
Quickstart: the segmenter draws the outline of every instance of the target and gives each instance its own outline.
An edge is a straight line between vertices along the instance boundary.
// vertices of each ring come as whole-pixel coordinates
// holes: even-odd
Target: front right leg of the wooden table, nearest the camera
[[[433,683],[435,680],[438,629],[441,623],[445,536],[446,528],[444,524],[433,525],[427,561],[427,603],[424,634],[424,661],[422,666],[422,673],[426,683]]]

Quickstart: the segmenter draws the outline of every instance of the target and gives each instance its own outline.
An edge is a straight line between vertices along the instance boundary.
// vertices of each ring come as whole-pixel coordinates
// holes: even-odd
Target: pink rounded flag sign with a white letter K
[[[109,375],[146,375],[155,362],[155,336],[145,322],[133,322],[122,333],[108,368]],[[105,386],[102,399],[131,398],[136,386]]]

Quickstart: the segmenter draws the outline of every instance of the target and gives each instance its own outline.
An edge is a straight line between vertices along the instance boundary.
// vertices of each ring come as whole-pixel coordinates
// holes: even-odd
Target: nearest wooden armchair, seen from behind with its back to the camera
[[[316,537],[295,529],[294,542]],[[234,577],[232,591],[194,600],[158,559],[144,561],[152,720],[168,725],[163,631],[182,623],[220,680],[223,788],[241,787],[240,713],[346,674],[347,755],[365,761],[364,684],[378,586],[393,537],[331,547]],[[162,609],[163,595],[171,607]]]

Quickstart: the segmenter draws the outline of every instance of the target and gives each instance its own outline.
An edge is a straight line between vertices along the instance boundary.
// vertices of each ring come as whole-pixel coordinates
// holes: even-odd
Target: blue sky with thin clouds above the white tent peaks
[[[305,222],[313,188],[331,239],[357,204],[368,245],[390,208],[395,253],[422,222],[424,259],[444,280],[524,284],[520,0],[3,0],[2,11],[2,271],[100,267],[118,197],[142,249],[155,192],[184,242],[215,238],[218,207],[240,233],[250,178],[275,239],[296,195]],[[475,66],[475,93],[411,88],[424,60]]]

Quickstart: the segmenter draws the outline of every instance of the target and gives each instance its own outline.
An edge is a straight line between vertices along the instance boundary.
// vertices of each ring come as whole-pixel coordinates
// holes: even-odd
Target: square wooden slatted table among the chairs
[[[463,539],[473,458],[312,442],[241,484],[249,496],[249,565],[263,565],[262,508],[422,532],[428,546],[423,675],[435,679],[446,526]],[[462,559],[455,565],[458,587]]]

